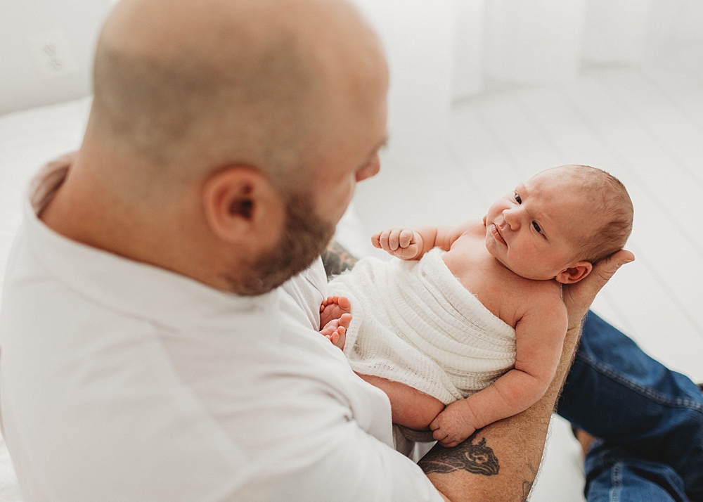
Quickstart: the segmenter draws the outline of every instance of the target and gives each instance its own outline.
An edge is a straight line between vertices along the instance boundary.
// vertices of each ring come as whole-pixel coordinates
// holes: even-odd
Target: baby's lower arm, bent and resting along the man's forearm
[[[456,446],[477,429],[529,408],[554,378],[567,330],[567,311],[560,298],[533,302],[515,326],[515,368],[484,390],[449,404],[430,423],[434,439]]]

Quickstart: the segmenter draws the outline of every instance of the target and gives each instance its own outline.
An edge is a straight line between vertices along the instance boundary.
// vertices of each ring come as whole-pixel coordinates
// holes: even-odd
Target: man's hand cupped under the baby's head
[[[563,286],[562,296],[569,314],[569,330],[581,328],[583,318],[591,307],[595,295],[610,281],[614,273],[626,263],[633,262],[635,255],[627,250],[619,250],[610,258],[593,266],[591,273],[575,284]]]

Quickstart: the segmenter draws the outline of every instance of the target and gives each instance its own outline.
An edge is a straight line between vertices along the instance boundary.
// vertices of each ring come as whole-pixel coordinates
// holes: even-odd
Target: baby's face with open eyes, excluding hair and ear
[[[563,169],[541,172],[489,209],[486,248],[517,275],[547,280],[569,268],[598,227],[592,198]]]

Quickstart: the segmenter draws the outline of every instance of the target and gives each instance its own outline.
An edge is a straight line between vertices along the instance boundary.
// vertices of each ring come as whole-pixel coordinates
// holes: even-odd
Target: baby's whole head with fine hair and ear
[[[624,247],[633,207],[623,184],[594,167],[547,169],[489,209],[486,248],[529,279],[575,283]]]

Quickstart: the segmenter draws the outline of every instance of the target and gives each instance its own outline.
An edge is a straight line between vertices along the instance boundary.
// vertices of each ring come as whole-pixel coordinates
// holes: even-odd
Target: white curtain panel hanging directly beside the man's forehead
[[[449,138],[455,0],[354,0],[380,34],[390,68],[389,151],[427,162]]]

